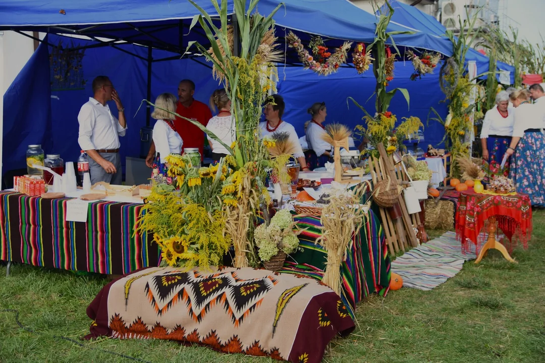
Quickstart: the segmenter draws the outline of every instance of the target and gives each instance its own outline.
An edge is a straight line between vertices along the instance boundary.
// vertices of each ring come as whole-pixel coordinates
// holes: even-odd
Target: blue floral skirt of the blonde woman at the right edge
[[[525,132],[511,156],[509,176],[517,192],[530,196],[532,206],[545,207],[545,137]]]

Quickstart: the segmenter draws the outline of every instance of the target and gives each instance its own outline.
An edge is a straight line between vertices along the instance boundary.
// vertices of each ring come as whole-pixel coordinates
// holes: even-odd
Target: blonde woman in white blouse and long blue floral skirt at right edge
[[[514,91],[513,137],[506,155],[511,157],[509,176],[517,192],[530,196],[532,206],[545,207],[545,137],[541,132],[543,115],[530,104],[528,91]]]

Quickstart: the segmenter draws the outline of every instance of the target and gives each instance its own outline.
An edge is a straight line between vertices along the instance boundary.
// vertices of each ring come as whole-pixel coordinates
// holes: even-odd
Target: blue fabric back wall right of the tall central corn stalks
[[[402,117],[417,116],[424,124],[425,143],[436,145],[444,135],[444,128],[438,122],[430,121],[427,126],[427,117],[430,107],[435,108],[443,118],[447,114],[446,104],[442,102],[445,95],[439,87],[438,73],[423,76],[416,81],[410,81],[414,68],[410,62],[396,62],[395,78],[390,82],[388,90],[406,88],[409,91],[410,104],[407,105],[401,93],[397,93],[390,104],[389,110],[401,121]],[[375,112],[375,97],[371,97],[375,90],[375,78],[371,67],[362,75],[355,69],[341,68],[337,73],[327,77],[317,76],[312,71],[304,71],[299,67],[278,67],[278,93],[286,102],[286,113],[283,117],[295,126],[299,136],[304,134],[304,124],[311,117],[307,109],[314,102],[325,102],[328,108],[328,122],[339,122],[349,127],[362,124],[364,116],[348,97],[353,97],[368,113]],[[370,99],[371,97],[371,99]],[[424,148],[424,147],[423,147]]]

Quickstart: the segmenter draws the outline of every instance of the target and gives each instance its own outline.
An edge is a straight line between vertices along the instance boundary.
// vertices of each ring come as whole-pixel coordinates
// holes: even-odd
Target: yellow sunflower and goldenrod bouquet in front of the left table
[[[172,184],[152,188],[137,229],[154,232],[162,265],[220,264],[232,244],[225,233],[229,200],[224,182],[232,179],[234,161],[227,157],[210,167],[193,167],[189,156],[172,154],[166,162]]]

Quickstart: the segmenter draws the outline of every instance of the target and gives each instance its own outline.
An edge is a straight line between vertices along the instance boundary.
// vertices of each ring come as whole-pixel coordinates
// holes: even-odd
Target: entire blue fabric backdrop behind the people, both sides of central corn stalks
[[[52,44],[62,41],[70,46],[89,44],[81,39],[49,35]],[[123,46],[142,57],[147,57],[147,49],[138,46]],[[171,53],[154,51],[156,59],[171,56]],[[162,61],[153,64],[152,101],[163,92],[177,94],[178,82],[190,78],[196,83],[195,98],[208,103],[212,92],[219,84],[211,77],[207,66],[195,60]],[[94,77],[107,75],[116,87],[128,118],[129,130],[120,138],[121,155],[140,156],[140,130],[146,126],[146,106],[141,101],[146,98],[147,62],[119,50],[100,47],[90,48],[83,57],[85,89],[51,91],[49,55],[47,47],[41,45],[31,60],[14,81],[4,96],[4,171],[24,168],[25,153],[29,144],[42,144],[46,153],[59,153],[64,161],[76,161],[80,153],[77,143],[77,115],[83,103],[93,95],[91,83]],[[437,75],[426,75],[422,79],[410,81],[413,67],[409,62],[397,62],[396,78],[390,87],[407,88],[410,93],[410,109],[403,96],[394,97],[390,110],[401,119],[402,116],[418,116],[426,125],[429,107],[436,108],[446,116],[443,93],[438,85]],[[354,69],[342,68],[338,73],[319,77],[312,71],[300,67],[278,67],[278,93],[286,100],[284,118],[292,123],[299,136],[303,135],[304,123],[309,119],[306,113],[313,102],[325,101],[328,105],[328,122],[336,121],[353,127],[360,124],[363,113],[347,97],[352,96],[369,112],[374,112],[374,99],[367,99],[374,92],[372,69],[358,75]],[[50,96],[58,97],[51,98]],[[31,105],[31,107],[28,107]],[[110,105],[115,109],[112,102]],[[154,120],[152,119],[153,127]],[[431,122],[425,127],[426,144],[438,143],[443,138],[443,127]]]

